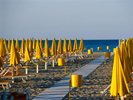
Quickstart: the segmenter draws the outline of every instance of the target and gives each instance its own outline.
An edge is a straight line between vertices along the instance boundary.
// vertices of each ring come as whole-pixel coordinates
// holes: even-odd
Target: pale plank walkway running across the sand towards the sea
[[[104,62],[104,56],[98,57],[89,64],[75,71],[74,74],[83,75],[83,77],[85,78],[103,62]],[[33,98],[33,100],[53,100],[53,99],[62,100],[69,92],[69,80],[70,76],[68,75],[63,80],[57,82],[52,87],[40,93],[38,96]]]

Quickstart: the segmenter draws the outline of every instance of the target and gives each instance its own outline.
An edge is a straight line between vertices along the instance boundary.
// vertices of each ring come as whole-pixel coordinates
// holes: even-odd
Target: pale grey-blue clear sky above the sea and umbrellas
[[[133,37],[133,0],[0,0],[0,37]]]

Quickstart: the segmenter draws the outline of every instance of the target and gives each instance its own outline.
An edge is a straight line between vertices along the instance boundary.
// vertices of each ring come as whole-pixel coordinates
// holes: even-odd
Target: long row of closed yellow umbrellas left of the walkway
[[[22,39],[21,47],[19,47],[19,41],[16,39],[16,42],[12,39],[8,40],[6,45],[6,39],[0,39],[0,62],[2,66],[2,60],[6,57],[7,53],[10,54],[10,65],[14,66],[20,63],[20,59],[24,59],[24,62],[31,61],[32,58],[41,59],[42,57],[48,58],[49,56],[61,55],[64,53],[72,52],[83,52],[84,43],[83,39],[80,40],[80,45],[78,47],[77,39],[74,40],[74,45],[72,46],[71,39],[67,44],[66,39],[64,39],[64,44],[62,40],[58,40],[58,46],[56,46],[55,38],[52,40],[51,48],[49,48],[48,39],[45,40],[45,47],[42,48],[42,39],[40,40],[31,40],[31,39]]]

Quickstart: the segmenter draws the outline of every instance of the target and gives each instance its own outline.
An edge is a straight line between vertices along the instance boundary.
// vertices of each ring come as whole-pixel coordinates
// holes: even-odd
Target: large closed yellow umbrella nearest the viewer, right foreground
[[[120,96],[124,96],[128,93],[130,93],[130,90],[121,64],[119,48],[116,48],[114,50],[114,63],[110,94],[112,96],[117,96],[118,94]]]

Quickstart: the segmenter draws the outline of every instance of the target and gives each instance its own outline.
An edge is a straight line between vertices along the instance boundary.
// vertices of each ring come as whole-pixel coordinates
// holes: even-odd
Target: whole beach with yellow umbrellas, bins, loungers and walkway
[[[133,38],[84,41],[1,38],[0,100],[132,100]]]

